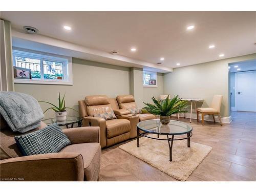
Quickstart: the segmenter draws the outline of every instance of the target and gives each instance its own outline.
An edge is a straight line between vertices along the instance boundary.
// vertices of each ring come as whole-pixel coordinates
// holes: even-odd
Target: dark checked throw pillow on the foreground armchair
[[[57,153],[72,144],[57,123],[26,135],[15,136],[14,139],[24,156]]]

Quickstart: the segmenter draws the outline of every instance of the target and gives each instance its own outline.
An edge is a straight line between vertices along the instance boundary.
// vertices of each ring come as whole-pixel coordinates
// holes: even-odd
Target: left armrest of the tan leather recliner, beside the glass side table
[[[100,117],[83,117],[83,126],[99,126],[100,128],[100,145],[101,148],[106,146],[106,120]]]

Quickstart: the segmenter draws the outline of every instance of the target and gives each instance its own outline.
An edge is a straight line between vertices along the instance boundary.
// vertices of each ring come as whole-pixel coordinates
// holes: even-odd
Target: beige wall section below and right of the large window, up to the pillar
[[[78,100],[83,100],[86,95],[99,94],[115,98],[119,94],[130,94],[130,69],[73,58],[73,86],[15,83],[15,91],[56,104],[58,93],[66,93],[66,105],[78,110]],[[48,106],[41,103],[42,110]],[[69,110],[68,115],[77,114]],[[54,117],[54,113],[49,110],[45,118],[51,117]]]

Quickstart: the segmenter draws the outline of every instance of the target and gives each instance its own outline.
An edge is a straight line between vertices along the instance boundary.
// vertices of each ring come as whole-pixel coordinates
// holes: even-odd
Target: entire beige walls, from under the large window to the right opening
[[[15,83],[15,91],[27,93],[37,100],[57,103],[57,96],[66,93],[66,105],[78,109],[78,100],[86,95],[102,94],[115,98],[117,95],[135,94],[136,102],[152,102],[151,97],[162,94],[179,95],[182,98],[203,98],[203,106],[209,106],[212,96],[223,95],[221,116],[229,116],[228,63],[255,59],[256,54],[200,63],[176,68],[172,73],[158,74],[157,88],[143,88],[142,70],[108,65],[73,58],[73,86]],[[137,96],[136,96],[137,95]],[[41,103],[42,110],[48,105]],[[69,111],[68,115],[76,115]],[[54,116],[52,111],[45,118]]]

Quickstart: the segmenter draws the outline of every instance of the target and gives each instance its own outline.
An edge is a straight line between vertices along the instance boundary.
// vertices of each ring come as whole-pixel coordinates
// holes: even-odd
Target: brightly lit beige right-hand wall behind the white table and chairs
[[[255,58],[256,54],[250,54],[175,68],[172,73],[163,76],[164,94],[179,95],[181,98],[202,98],[205,100],[203,106],[209,106],[214,95],[223,95],[221,116],[229,117],[228,63]]]

